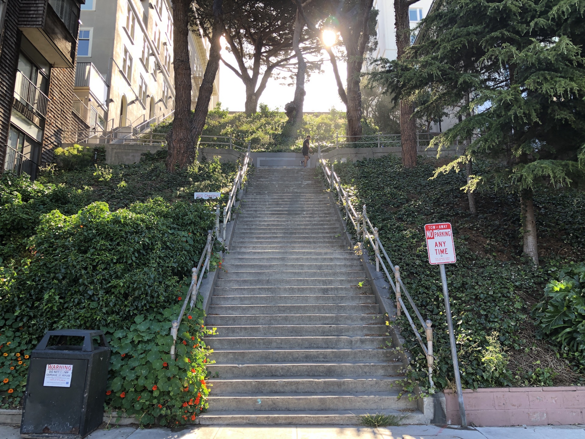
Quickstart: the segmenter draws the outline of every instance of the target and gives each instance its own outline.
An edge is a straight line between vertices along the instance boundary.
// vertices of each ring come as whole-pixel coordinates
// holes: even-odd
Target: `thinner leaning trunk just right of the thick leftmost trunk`
[[[209,60],[205,66],[205,73],[203,80],[199,87],[199,95],[197,97],[197,105],[195,105],[195,112],[191,120],[191,138],[194,142],[199,140],[199,136],[203,132],[205,121],[207,120],[207,113],[209,111],[209,101],[214,92],[214,81],[219,70],[219,59],[221,52],[221,43],[219,39],[223,33],[222,24],[222,0],[214,0],[214,25],[211,34],[211,47],[209,47]],[[195,148],[192,148],[195,154]]]

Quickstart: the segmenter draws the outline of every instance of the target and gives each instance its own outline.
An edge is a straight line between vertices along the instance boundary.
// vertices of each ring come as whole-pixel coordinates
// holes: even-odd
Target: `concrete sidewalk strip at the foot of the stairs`
[[[455,427],[400,426],[201,426],[180,431],[167,428],[116,427],[97,430],[88,439],[585,439],[585,426]],[[19,427],[0,426],[0,439],[20,439]]]

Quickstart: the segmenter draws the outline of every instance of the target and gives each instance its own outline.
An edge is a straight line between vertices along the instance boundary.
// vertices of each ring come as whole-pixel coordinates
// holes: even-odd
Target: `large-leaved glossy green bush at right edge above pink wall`
[[[557,342],[563,354],[574,357],[585,369],[585,263],[562,267],[558,279],[546,284],[533,314],[541,336]]]

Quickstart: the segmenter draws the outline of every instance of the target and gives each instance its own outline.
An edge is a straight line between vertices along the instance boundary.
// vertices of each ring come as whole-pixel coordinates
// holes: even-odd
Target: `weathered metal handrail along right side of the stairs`
[[[353,227],[355,228],[358,245],[360,245],[360,248],[364,249],[365,246],[367,245],[367,243],[369,243],[371,249],[373,249],[374,259],[376,260],[376,272],[380,272],[380,266],[381,266],[384,274],[386,274],[386,278],[388,279],[388,283],[390,283],[392,289],[394,290],[394,293],[396,296],[396,301],[395,301],[396,315],[398,317],[400,317],[401,310],[404,312],[404,315],[407,318],[408,323],[409,323],[410,327],[412,328],[412,331],[414,332],[415,337],[417,338],[419,344],[421,345],[422,351],[424,352],[424,354],[426,356],[426,361],[427,361],[427,365],[428,365],[429,384],[430,384],[431,388],[433,388],[435,385],[434,385],[433,379],[432,379],[432,368],[433,368],[433,363],[434,363],[435,358],[433,356],[433,345],[432,345],[432,343],[433,343],[432,342],[432,339],[433,339],[433,337],[432,337],[432,322],[431,322],[431,320],[425,321],[422,318],[422,315],[421,315],[420,311],[418,310],[417,306],[415,305],[414,300],[412,300],[411,295],[408,293],[408,290],[404,286],[404,282],[402,282],[402,279],[400,276],[400,267],[398,265],[393,265],[392,261],[388,257],[388,253],[386,252],[386,249],[384,249],[384,246],[382,245],[382,242],[380,241],[380,238],[378,237],[378,229],[376,227],[373,227],[373,225],[371,224],[370,218],[367,216],[366,205],[365,204],[363,205],[362,212],[360,212],[358,214],[356,209],[353,207],[352,202],[350,201],[349,193],[343,188],[343,186],[341,184],[341,180],[339,179],[339,176],[335,173],[335,169],[333,168],[333,164],[331,165],[331,169],[329,169],[328,163],[323,158],[321,146],[319,145],[317,148],[318,148],[317,149],[318,163],[322,167],[325,179],[327,180],[327,183],[329,184],[329,189],[331,191],[335,191],[335,193],[337,194],[339,208],[340,209],[345,208],[346,218],[349,219],[349,221],[352,223]],[[362,242],[359,242],[360,236],[362,238]],[[380,251],[381,251],[381,255],[383,255],[383,256],[380,255]],[[387,266],[390,267],[390,270],[388,270]],[[392,275],[390,274],[390,272],[392,273]],[[394,280],[393,280],[393,277],[394,277]],[[402,293],[404,293],[404,295],[407,297],[409,305],[411,306],[416,317],[418,318],[419,322],[422,325],[422,330],[425,331],[426,345],[422,341],[422,337],[421,337],[421,334],[419,333],[419,330],[417,329],[417,325],[414,323],[411,315],[408,313],[408,309],[405,306],[404,301],[402,301]]]

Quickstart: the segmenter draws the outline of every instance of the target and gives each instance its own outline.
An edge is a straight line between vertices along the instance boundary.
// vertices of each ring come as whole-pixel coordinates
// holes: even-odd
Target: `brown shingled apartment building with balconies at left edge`
[[[0,0],[0,164],[36,177],[72,111],[78,19],[83,0]]]

